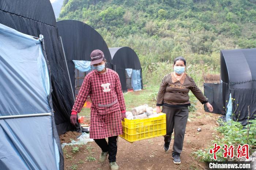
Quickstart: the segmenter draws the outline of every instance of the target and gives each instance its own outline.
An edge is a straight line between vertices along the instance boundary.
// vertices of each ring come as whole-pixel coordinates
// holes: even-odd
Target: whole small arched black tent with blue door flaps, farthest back
[[[109,48],[109,51],[113,70],[119,75],[122,90],[141,90],[143,88],[142,67],[135,51],[130,47],[114,47]]]

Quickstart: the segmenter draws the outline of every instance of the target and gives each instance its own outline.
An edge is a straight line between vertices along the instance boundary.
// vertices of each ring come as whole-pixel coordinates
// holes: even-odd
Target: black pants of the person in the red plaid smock
[[[111,136],[108,139],[109,143],[106,141],[105,138],[94,139],[94,141],[101,148],[102,152],[109,152],[109,162],[116,162],[118,136]]]

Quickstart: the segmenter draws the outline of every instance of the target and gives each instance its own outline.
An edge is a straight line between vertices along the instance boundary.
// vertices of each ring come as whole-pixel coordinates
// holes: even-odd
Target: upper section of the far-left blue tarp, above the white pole
[[[49,73],[39,39],[0,24],[0,73],[1,116],[51,112]]]

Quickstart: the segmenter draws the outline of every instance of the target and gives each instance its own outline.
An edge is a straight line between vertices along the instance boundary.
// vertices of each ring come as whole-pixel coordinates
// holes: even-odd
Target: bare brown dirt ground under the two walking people
[[[204,112],[203,105],[200,103],[197,104],[197,108],[196,112],[189,113],[180,165],[174,164],[171,157],[173,139],[170,150],[165,152],[163,136],[134,143],[119,138],[117,163],[120,170],[203,169],[206,165],[199,162],[191,152],[210,145],[213,133],[217,133],[214,127],[217,126],[216,119],[219,115]],[[197,132],[199,127],[202,131]],[[65,169],[110,170],[108,160],[105,163],[98,163],[97,159],[101,150],[95,142],[78,147],[79,151],[76,153],[72,152],[72,146],[65,146],[63,149]]]

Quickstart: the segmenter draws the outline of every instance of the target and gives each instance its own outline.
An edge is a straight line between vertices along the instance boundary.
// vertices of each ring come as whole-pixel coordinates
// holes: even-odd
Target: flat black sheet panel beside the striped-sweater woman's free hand
[[[217,113],[225,115],[225,105],[222,103],[222,84],[221,83],[204,83],[204,96],[208,98],[208,102],[213,107],[212,113]],[[204,105],[204,110],[209,112],[206,105]]]

